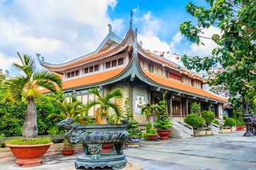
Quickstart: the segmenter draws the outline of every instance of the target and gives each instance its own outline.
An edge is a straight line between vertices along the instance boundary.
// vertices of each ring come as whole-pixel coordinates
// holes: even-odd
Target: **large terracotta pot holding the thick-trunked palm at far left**
[[[41,145],[10,145],[7,144],[7,147],[10,147],[11,152],[17,158],[16,164],[19,166],[38,166],[42,164],[42,156],[47,152],[50,145],[41,144]]]

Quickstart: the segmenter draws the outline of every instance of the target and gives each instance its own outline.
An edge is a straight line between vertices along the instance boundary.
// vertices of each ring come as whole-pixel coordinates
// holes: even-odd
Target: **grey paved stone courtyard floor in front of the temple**
[[[141,164],[144,170],[256,170],[256,137],[245,138],[240,132],[142,142],[141,147],[129,148],[125,154],[129,162]],[[34,168],[6,162],[0,164],[0,169],[74,169],[76,156],[45,157],[44,164]]]

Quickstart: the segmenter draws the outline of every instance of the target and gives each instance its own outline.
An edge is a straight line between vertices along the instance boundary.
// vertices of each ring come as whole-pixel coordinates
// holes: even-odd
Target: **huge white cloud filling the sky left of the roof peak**
[[[107,23],[117,33],[123,28],[124,20],[107,14],[116,4],[117,0],[0,1],[1,59],[8,63],[16,51],[39,52],[46,61],[62,63],[93,51],[107,35]]]

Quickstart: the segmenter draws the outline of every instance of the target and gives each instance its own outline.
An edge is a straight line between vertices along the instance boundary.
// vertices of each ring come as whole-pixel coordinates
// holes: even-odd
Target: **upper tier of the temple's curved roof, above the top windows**
[[[54,71],[57,73],[63,74],[64,71],[75,68],[77,66],[84,65],[86,63],[91,63],[93,61],[99,61],[100,59],[105,59],[109,56],[113,56],[117,54],[118,52],[127,49],[129,46],[134,46],[134,31],[132,29],[132,23],[130,23],[130,28],[124,37],[124,39],[118,37],[114,32],[112,32],[112,26],[109,26],[109,33],[103,40],[103,42],[100,43],[99,47],[86,55],[80,56],[76,59],[73,59],[71,61],[65,62],[65,63],[47,63],[43,56],[40,56],[40,54],[37,54],[37,58],[40,61],[40,64],[49,69],[50,71]],[[141,56],[144,56],[146,59],[149,59],[151,61],[155,61],[157,63],[161,63],[162,66],[168,67],[171,69],[174,69],[175,71],[178,71],[182,74],[189,75],[191,78],[202,80],[204,83],[206,83],[206,80],[202,78],[202,75],[199,75],[198,73],[193,73],[192,71],[187,70],[186,68],[180,66],[178,63],[174,63],[173,61],[169,61],[168,59],[165,59],[163,56],[159,56],[158,54],[154,54],[153,52],[143,49],[138,42],[136,42],[138,53],[141,54]]]

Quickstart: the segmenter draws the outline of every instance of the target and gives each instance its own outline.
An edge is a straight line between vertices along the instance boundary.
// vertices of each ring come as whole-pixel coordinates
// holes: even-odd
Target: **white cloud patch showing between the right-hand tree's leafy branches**
[[[214,34],[221,35],[221,30],[219,28],[215,28],[213,26],[209,27],[208,29],[203,29],[202,32],[204,34],[201,34],[201,36],[204,37],[211,37]],[[189,51],[187,51],[187,54],[191,55],[198,55],[198,56],[211,56],[211,51],[217,47],[217,44],[213,40],[200,38],[200,40],[204,44],[192,44],[190,46]]]

